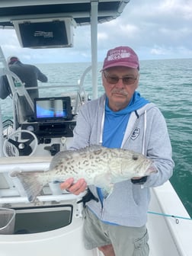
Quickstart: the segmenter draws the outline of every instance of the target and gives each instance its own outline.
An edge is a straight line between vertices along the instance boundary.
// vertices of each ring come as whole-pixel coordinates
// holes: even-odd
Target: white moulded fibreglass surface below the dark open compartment
[[[72,223],[62,229],[24,235],[0,235],[1,256],[63,256],[98,255],[97,251],[87,251],[82,241],[82,219],[72,219]]]

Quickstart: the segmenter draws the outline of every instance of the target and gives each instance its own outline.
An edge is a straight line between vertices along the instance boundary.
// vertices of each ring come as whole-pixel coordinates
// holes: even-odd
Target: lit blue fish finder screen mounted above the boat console
[[[36,120],[72,119],[69,97],[36,98],[34,101]]]

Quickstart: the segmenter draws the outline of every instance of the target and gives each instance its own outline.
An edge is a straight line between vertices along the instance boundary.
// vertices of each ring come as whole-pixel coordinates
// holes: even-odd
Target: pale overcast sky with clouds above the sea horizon
[[[14,30],[0,30],[0,45],[5,57],[23,62],[91,62],[90,27],[74,32],[73,48],[21,48]],[[131,46],[139,59],[192,58],[192,0],[131,0],[119,18],[98,25],[98,61],[120,45]]]

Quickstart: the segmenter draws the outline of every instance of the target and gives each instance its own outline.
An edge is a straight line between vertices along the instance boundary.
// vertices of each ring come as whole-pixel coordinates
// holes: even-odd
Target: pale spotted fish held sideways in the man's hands
[[[92,145],[56,153],[48,170],[12,171],[10,176],[21,181],[28,200],[34,202],[43,187],[50,182],[63,182],[67,178],[74,178],[75,182],[84,178],[88,185],[112,193],[115,183],[156,171],[152,159],[140,153]]]

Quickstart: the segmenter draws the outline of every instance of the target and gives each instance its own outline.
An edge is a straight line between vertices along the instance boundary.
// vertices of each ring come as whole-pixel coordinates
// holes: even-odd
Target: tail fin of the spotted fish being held
[[[42,171],[43,172],[43,171]],[[24,187],[24,190],[27,194],[28,200],[30,202],[34,202],[36,200],[37,195],[42,190],[43,184],[40,173],[41,171],[13,171],[11,173],[11,177],[17,177],[21,184]]]

